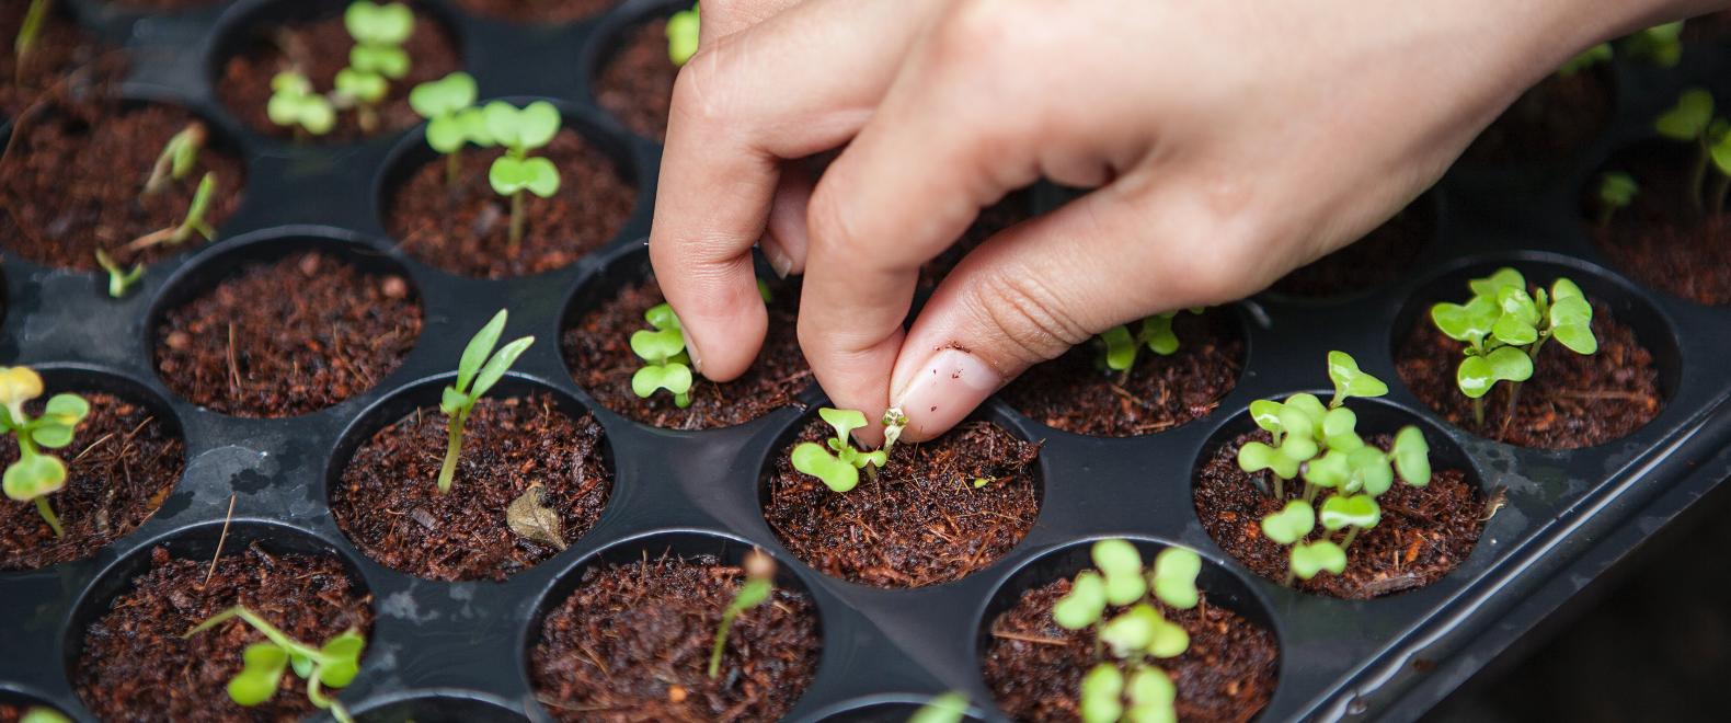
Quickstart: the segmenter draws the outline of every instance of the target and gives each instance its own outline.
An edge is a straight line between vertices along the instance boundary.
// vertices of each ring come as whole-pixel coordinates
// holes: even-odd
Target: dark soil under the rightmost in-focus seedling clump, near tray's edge
[[[1665,405],[1658,391],[1653,355],[1634,330],[1593,308],[1593,334],[1599,351],[1582,356],[1546,344],[1530,381],[1520,384],[1515,417],[1508,417],[1511,386],[1485,394],[1485,425],[1473,420],[1473,403],[1454,384],[1461,342],[1442,336],[1430,317],[1416,320],[1395,353],[1400,381],[1451,424],[1490,439],[1541,450],[1577,450],[1603,445],[1641,429]]]

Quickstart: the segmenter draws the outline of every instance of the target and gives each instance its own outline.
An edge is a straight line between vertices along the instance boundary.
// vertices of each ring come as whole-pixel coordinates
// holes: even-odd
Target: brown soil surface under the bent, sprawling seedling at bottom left
[[[372,628],[372,597],[355,590],[343,564],[325,555],[272,553],[230,540],[215,574],[208,555],[175,559],[151,552],[151,569],[133,579],[109,612],[85,628],[73,685],[106,721],[294,721],[315,713],[305,681],[287,673],[270,701],[241,707],[228,678],[241,650],[265,640],[241,619],[190,638],[189,630],[232,605],[246,605],[287,637],[319,645],[355,628]],[[362,669],[367,656],[362,654]]]

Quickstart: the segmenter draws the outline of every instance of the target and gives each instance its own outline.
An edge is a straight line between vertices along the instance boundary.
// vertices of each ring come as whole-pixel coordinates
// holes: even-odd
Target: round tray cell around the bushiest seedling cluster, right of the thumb
[[[1316,394],[1328,401],[1329,393]],[[1381,522],[1347,545],[1345,573],[1322,573],[1310,581],[1297,579],[1293,586],[1317,595],[1373,598],[1433,585],[1478,545],[1487,517],[1482,476],[1466,451],[1433,422],[1374,400],[1350,400],[1347,408],[1359,417],[1359,436],[1383,450],[1399,429],[1416,425],[1430,445],[1432,479],[1423,488],[1395,479],[1376,498]],[[1276,496],[1267,474],[1243,472],[1238,450],[1250,441],[1269,443],[1269,436],[1257,429],[1248,412],[1239,412],[1208,438],[1191,476],[1196,515],[1213,541],[1245,567],[1274,583],[1286,583],[1290,548],[1264,536],[1260,522],[1281,512],[1290,500],[1303,498],[1305,483],[1302,477],[1286,481],[1277,489],[1281,496]],[[1312,512],[1319,512],[1328,496],[1329,491],[1316,495]],[[1328,538],[1340,543],[1345,534]],[[1317,522],[1307,540],[1322,536]]]

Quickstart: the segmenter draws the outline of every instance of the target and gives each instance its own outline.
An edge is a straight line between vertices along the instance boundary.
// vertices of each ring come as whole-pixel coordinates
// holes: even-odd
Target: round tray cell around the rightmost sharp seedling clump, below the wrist
[[[1466,303],[1468,280],[1515,268],[1528,285],[1567,277],[1593,303],[1598,353],[1577,355],[1546,342],[1534,377],[1520,384],[1509,415],[1509,382],[1483,396],[1480,425],[1475,405],[1456,386],[1463,342],[1445,337],[1430,310],[1440,301]],[[1395,325],[1393,358],[1407,389],[1449,424],[1487,439],[1546,450],[1605,445],[1638,432],[1658,417],[1681,379],[1677,337],[1665,317],[1634,287],[1584,261],[1549,254],[1477,259],[1426,282],[1407,301]],[[1392,381],[1390,381],[1392,382]]]

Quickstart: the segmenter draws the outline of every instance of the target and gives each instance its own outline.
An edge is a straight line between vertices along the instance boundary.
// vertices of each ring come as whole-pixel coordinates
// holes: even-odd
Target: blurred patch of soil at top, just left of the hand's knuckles
[[[679,78],[679,67],[666,57],[666,19],[656,17],[621,35],[618,50],[595,78],[595,100],[632,133],[666,140],[666,112]]]

